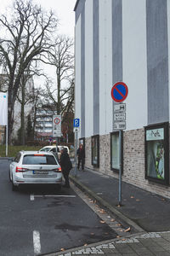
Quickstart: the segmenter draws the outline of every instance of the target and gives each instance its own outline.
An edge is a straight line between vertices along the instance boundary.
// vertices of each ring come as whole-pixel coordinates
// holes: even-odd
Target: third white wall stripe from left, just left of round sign
[[[112,131],[111,0],[99,1],[99,134]]]

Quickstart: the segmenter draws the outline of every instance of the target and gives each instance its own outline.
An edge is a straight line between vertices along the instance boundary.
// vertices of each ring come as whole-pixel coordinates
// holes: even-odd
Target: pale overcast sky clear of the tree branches
[[[74,7],[77,0],[33,0],[41,4],[43,9],[52,9],[59,19],[59,33],[74,37]],[[0,13],[13,3],[13,0],[0,0]]]

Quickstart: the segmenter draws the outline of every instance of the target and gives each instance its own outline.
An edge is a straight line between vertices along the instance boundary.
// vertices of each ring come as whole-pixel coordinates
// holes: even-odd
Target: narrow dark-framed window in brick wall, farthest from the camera
[[[99,167],[99,135],[92,137],[92,166]]]

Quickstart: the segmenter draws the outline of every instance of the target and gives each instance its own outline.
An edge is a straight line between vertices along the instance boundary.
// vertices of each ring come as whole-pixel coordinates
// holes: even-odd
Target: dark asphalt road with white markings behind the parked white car
[[[115,237],[72,189],[43,185],[13,192],[8,160],[0,160],[1,256],[52,253]]]

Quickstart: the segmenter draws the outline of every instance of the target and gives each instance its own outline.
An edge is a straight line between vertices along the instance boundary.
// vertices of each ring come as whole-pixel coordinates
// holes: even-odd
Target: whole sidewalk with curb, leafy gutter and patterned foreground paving
[[[169,256],[170,200],[122,182],[122,207],[118,205],[118,180],[99,172],[71,171],[71,181],[104,209],[109,210],[122,226],[131,228],[129,235],[111,241],[49,253],[48,256],[103,254],[105,256]]]

